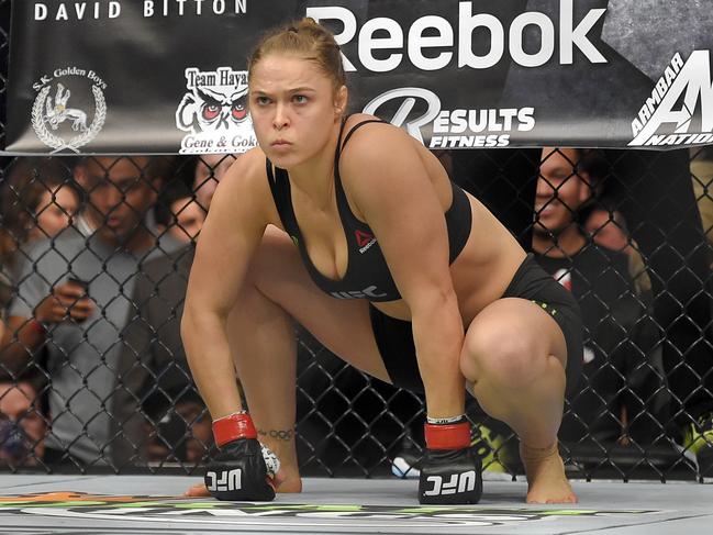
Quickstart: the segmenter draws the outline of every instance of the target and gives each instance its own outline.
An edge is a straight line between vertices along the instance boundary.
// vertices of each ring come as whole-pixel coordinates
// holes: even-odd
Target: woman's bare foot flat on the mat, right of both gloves
[[[532,448],[521,443],[520,457],[527,473],[527,503],[577,503],[557,443],[548,448]]]

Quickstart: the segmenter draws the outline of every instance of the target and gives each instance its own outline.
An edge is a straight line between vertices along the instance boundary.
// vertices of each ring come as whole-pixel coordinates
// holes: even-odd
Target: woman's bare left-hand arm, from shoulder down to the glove
[[[181,338],[213,420],[242,410],[225,322],[267,226],[264,169],[265,158],[252,151],[221,180],[188,281]]]

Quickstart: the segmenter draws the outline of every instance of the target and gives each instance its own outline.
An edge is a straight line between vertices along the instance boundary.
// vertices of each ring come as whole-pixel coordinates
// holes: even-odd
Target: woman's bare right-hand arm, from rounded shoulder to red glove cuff
[[[411,310],[427,414],[460,415],[463,319],[450,277],[443,207],[417,147],[396,127],[368,125],[354,135],[341,171]]]

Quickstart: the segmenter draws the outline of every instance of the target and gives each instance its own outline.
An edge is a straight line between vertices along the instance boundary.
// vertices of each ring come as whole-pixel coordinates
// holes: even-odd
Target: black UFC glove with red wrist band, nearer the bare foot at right
[[[470,424],[425,424],[425,438],[419,503],[478,503],[482,494],[481,461],[470,448]]]

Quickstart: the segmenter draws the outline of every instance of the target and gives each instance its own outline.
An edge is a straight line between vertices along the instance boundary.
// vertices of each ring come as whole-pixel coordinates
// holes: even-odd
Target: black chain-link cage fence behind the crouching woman
[[[713,477],[713,151],[437,156],[582,306],[584,374],[560,430],[568,472]],[[214,453],[179,323],[193,245],[233,160],[2,158],[3,470],[193,473]],[[413,476],[423,398],[296,335],[303,473]],[[474,400],[468,416],[486,475],[522,473],[512,432]]]

